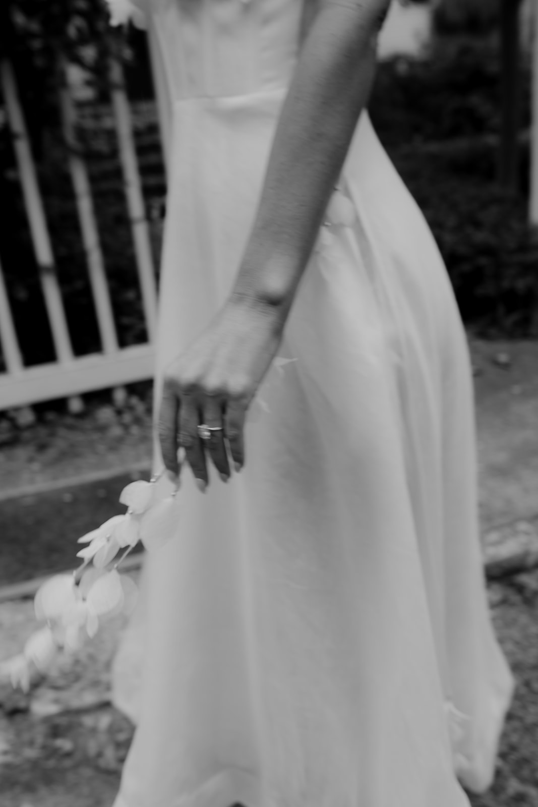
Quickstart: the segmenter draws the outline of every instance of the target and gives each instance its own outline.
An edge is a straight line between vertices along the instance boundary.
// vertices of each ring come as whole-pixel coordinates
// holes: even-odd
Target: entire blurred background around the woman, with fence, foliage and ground
[[[393,2],[369,106],[473,358],[485,571],[518,679],[473,807],[538,807],[537,14]],[[167,106],[151,31],[111,28],[102,0],[2,0],[0,80],[1,661],[40,579],[150,473]],[[109,807],[132,733],[110,703],[123,624],[27,695],[0,682],[0,807]]]

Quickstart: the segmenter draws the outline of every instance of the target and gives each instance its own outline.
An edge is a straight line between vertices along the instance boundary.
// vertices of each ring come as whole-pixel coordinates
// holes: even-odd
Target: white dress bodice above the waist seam
[[[301,0],[136,0],[159,40],[173,100],[286,86]]]

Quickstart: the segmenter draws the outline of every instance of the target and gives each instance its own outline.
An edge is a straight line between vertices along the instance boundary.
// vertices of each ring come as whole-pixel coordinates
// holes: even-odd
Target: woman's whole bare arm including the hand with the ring
[[[169,366],[159,420],[161,451],[177,476],[186,450],[198,487],[211,456],[230,475],[244,464],[244,418],[282,339],[357,120],[368,101],[377,31],[390,0],[307,0],[304,38],[277,123],[261,200],[227,303]],[[223,431],[198,437],[198,424]]]

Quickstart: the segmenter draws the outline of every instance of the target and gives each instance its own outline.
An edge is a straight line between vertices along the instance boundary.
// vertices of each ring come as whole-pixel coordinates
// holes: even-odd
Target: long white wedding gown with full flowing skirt
[[[235,277],[301,6],[148,12],[173,99],[158,391]],[[512,679],[482,579],[465,334],[366,113],[339,189],[244,470],[202,495],[186,469],[176,534],[148,558],[116,664],[138,725],[115,807],[463,807],[458,779],[492,780]]]

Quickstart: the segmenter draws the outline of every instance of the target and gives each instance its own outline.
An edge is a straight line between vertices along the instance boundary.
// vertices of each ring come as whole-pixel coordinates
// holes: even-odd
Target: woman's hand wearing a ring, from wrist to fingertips
[[[282,327],[272,312],[230,302],[168,367],[158,428],[163,460],[174,478],[181,471],[177,459],[181,447],[202,491],[209,481],[206,450],[223,481],[230,476],[227,445],[236,470],[241,469],[248,405],[281,337]],[[202,440],[199,424],[223,430]]]

